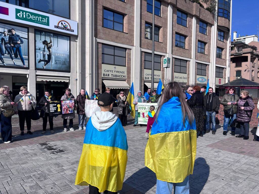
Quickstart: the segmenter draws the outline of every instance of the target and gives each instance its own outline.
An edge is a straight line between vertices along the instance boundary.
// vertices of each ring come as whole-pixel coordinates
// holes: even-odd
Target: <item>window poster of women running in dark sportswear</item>
[[[28,68],[28,28],[0,22],[0,67]]]

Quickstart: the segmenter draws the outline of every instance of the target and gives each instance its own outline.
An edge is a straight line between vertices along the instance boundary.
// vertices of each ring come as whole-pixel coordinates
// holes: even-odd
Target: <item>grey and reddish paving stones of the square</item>
[[[0,141],[1,193],[88,193],[88,186],[74,185],[85,130],[62,132],[58,121],[55,134],[47,131],[41,135],[39,120],[33,135],[16,135],[10,144]],[[144,165],[146,128],[128,124],[128,163],[123,189],[118,193],[155,193],[156,176]],[[229,133],[223,136],[221,126],[217,128],[216,135],[207,133],[197,139],[190,193],[258,193],[259,142],[252,141],[251,132],[250,139],[243,140]],[[19,134],[15,127],[14,131]]]

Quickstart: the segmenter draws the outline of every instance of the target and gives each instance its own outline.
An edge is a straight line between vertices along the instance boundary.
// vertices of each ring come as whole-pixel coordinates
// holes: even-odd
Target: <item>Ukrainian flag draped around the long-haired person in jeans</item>
[[[179,183],[192,174],[196,156],[196,124],[185,126],[178,97],[162,105],[145,150],[145,166],[161,181]]]

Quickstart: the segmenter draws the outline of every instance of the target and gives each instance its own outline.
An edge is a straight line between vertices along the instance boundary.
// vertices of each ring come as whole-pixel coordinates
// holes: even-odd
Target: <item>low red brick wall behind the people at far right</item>
[[[249,123],[250,128],[256,128],[258,125],[258,118],[256,117],[257,113],[259,112],[259,110],[257,109],[258,98],[254,98],[253,101],[255,103],[255,109],[253,110],[251,121]],[[216,123],[220,124],[220,125],[223,125],[223,123],[224,123],[223,105],[220,105],[219,114],[216,114]]]

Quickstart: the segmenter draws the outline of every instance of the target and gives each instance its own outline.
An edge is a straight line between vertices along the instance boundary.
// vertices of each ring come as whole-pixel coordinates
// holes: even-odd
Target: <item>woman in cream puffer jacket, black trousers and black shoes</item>
[[[15,96],[15,102],[17,103],[17,106],[15,107],[15,112],[18,112],[21,135],[24,135],[25,120],[27,126],[27,134],[32,135],[31,113],[32,107],[34,106],[36,108],[37,103],[34,95],[28,92],[28,88],[26,86],[21,86],[20,93]]]

